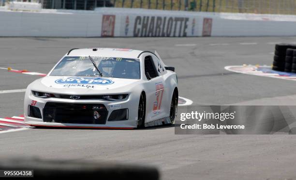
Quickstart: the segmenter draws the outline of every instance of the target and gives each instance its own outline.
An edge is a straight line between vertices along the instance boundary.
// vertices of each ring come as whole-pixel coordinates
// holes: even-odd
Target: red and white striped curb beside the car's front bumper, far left
[[[30,126],[24,123],[23,115],[0,118],[0,134],[26,130],[28,127]]]

